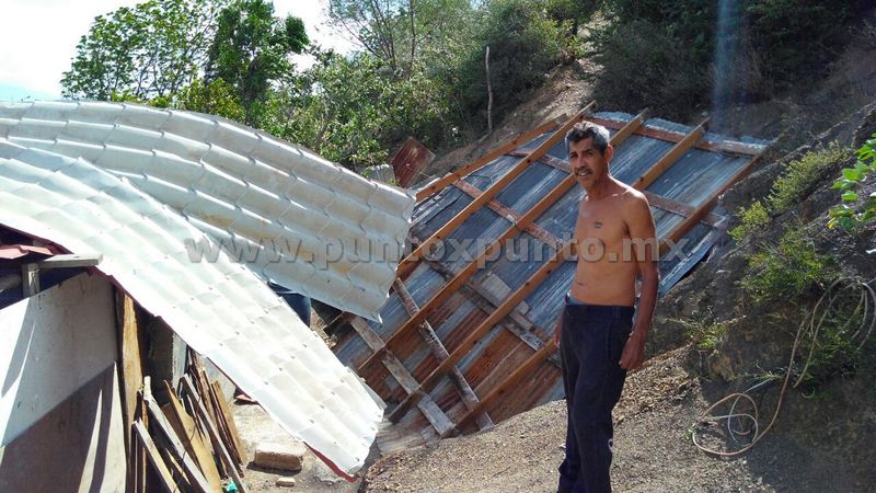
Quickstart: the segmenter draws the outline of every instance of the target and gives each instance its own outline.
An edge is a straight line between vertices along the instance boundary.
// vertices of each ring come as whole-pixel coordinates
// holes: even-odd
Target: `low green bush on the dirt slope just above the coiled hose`
[[[797,299],[838,277],[831,257],[818,251],[803,227],[789,228],[777,244],[752,253],[748,268],[740,284],[756,305]]]

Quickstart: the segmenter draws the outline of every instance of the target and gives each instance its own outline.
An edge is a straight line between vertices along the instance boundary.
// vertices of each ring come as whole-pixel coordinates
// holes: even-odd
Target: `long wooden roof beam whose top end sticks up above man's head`
[[[438,231],[434,232],[431,237],[427,238],[416,250],[414,250],[406,259],[404,259],[400,264],[396,272],[396,277],[401,279],[405,279],[411,272],[416,266],[416,263],[419,259],[425,255],[425,253],[436,243],[446,239],[454,229],[457,229],[462,222],[466,219],[472,217],[474,213],[476,213],[481,207],[484,206],[487,202],[492,200],[493,197],[498,195],[506,185],[511,183],[517,176],[519,176],[523,171],[529,168],[529,165],[544,156],[556,142],[561,141],[566,131],[573,127],[576,123],[584,119],[585,115],[595,106],[595,103],[590,103],[584,107],[577,115],[573,116],[568,122],[566,122],[562,127],[560,127],[548,140],[542,142],[538,148],[533,149],[532,152],[529,153],[526,158],[518,161],[514,167],[511,167],[508,172],[506,172],[500,179],[496,180],[487,190],[484,191],[484,194],[480,197],[472,200],[469,205],[466,205],[462,210],[460,210],[452,219],[450,219],[445,226],[440,227]]]

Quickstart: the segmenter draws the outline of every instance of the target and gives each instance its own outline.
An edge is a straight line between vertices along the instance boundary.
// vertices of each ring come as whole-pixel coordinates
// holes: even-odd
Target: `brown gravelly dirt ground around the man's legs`
[[[690,428],[714,402],[684,369],[689,348],[652,359],[631,375],[614,412],[612,484],[623,492],[866,492],[853,475],[825,474],[807,450],[766,436],[749,455],[719,459],[699,451]],[[368,470],[368,492],[556,491],[566,410],[556,401],[493,431],[446,439],[385,457]],[[793,426],[784,423],[785,426]],[[838,471],[840,472],[840,471]]]

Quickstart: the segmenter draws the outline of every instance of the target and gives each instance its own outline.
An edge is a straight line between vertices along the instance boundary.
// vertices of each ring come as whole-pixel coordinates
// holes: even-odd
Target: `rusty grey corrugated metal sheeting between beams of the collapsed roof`
[[[632,115],[618,113],[600,113],[592,117],[611,124],[609,126],[612,135],[633,119]],[[692,130],[691,127],[658,118],[645,121],[633,135],[615,146],[612,174],[625,183],[634,183]],[[550,136],[551,134],[544,134],[535,137],[516,151],[463,176],[468,184],[465,186],[486,191],[508,173],[522,156],[537,149]],[[721,223],[719,216],[711,217],[708,222],[693,223],[687,231],[678,228],[698,207],[711,204],[731,180],[750,165],[765,144],[753,139],[742,144],[706,133],[704,138],[683,152],[646,187],[647,192],[659,198],[655,202],[662,204],[657,206],[652,203],[658,237],[678,238],[683,232],[679,238],[679,246],[669,250],[661,259],[660,293],[666,293],[680,280],[707,254],[723,233],[716,227]],[[416,268],[404,279],[404,285],[419,307],[441,293],[448,280],[471,262],[479,241],[483,249],[511,225],[516,225],[517,218],[532,209],[568,176],[564,161],[566,157],[565,144],[560,140],[548,151],[546,157],[530,163],[519,176],[499,191],[494,199],[496,204],[483,206],[449,233],[448,240],[462,243],[460,249],[470,254],[468,259],[448,254],[452,253],[452,246],[447,245],[449,241],[446,241],[443,250],[438,249],[430,260],[418,262]],[[466,192],[462,185],[450,185],[425,197],[414,210],[411,232],[415,241],[425,241],[445,227],[472,204],[472,193],[475,192],[470,187]],[[503,254],[498,259],[491,260],[483,268],[479,268],[463,288],[457,289],[428,313],[426,320],[448,352],[452,353],[512,293],[526,285],[531,286],[533,274],[554,254],[557,242],[570,238],[583,196],[583,188],[575,184],[535,219],[535,232],[532,229],[515,231],[512,241],[503,245]],[[508,249],[512,249],[515,259],[509,257]],[[562,378],[555,359],[540,360],[538,351],[554,331],[563,296],[568,290],[574,274],[575,262],[561,262],[554,272],[537,284],[508,316],[489,328],[474,347],[459,359],[457,367],[481,399],[496,391],[521,365],[528,364],[528,368],[532,368],[526,378],[519,380],[514,388],[504,388],[500,398],[486,406],[485,411],[494,421],[563,395]],[[395,295],[391,296],[382,314],[383,323],[371,323],[371,326],[384,340],[393,337],[411,319]],[[438,365],[416,330],[396,336],[390,343],[389,351],[397,356],[418,381],[427,378]],[[388,402],[407,398],[406,392],[381,365],[382,358],[369,359],[371,352],[356,333],[350,332],[338,343],[336,354],[342,362],[358,367],[360,376],[367,381],[378,382],[376,390]],[[372,363],[362,366],[365,362]],[[448,378],[442,378],[434,388],[422,390],[462,431],[472,429],[471,423],[459,423],[468,411]],[[383,438],[378,438],[378,443],[387,450],[402,445],[410,446],[412,436],[419,437],[419,440],[437,436],[429,422],[416,409],[412,408],[396,417],[400,421],[393,429],[388,431]]]

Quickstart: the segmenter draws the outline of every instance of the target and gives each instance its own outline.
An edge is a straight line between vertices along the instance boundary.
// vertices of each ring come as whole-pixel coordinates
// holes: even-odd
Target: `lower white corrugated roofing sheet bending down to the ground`
[[[212,240],[175,210],[84,159],[0,138],[0,223],[101,253],[97,268],[289,433],[343,471],[362,466],[382,410],[252,271],[223,253],[191,262],[185,240]]]

